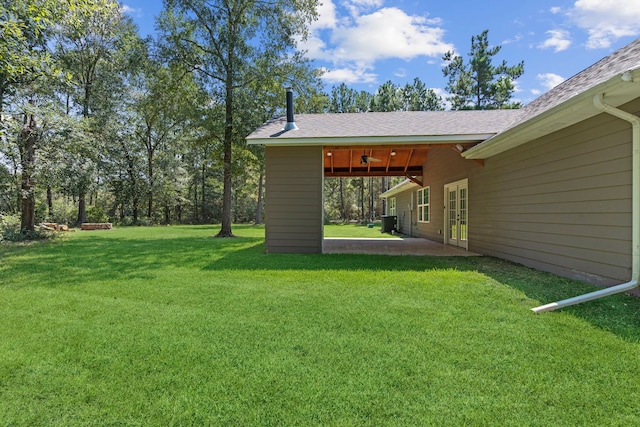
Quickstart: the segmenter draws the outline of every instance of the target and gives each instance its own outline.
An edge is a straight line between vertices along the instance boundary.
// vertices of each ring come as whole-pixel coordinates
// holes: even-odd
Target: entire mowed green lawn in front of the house
[[[264,253],[264,229],[0,246],[0,425],[640,425],[640,302],[487,257]]]

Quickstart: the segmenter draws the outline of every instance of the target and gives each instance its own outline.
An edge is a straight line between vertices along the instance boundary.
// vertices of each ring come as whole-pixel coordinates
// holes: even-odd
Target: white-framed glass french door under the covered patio
[[[468,180],[444,186],[445,241],[452,246],[469,249],[469,184]]]

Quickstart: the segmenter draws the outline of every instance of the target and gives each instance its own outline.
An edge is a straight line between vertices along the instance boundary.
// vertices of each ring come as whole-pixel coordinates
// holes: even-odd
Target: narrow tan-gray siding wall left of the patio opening
[[[265,148],[268,253],[321,253],[322,147]]]

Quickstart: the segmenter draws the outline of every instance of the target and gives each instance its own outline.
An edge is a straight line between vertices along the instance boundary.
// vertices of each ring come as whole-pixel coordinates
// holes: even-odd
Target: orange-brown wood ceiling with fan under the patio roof
[[[437,147],[459,153],[469,146],[438,144]],[[324,176],[422,176],[422,165],[432,148],[429,144],[324,146]]]

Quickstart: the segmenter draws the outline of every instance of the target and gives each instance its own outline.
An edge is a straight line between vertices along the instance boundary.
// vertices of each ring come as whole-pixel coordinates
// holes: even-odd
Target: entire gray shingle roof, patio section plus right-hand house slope
[[[520,110],[298,114],[295,116],[297,130],[283,132],[286,123],[283,117],[265,123],[247,139],[268,144],[278,140],[312,140],[314,138],[500,136],[502,132],[523,125],[600,83],[607,82],[628,70],[639,68],[640,39],[637,39],[559,84]]]

